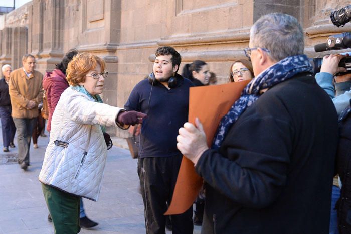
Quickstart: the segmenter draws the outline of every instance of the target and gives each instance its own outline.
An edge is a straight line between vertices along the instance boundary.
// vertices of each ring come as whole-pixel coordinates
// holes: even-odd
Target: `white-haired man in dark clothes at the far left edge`
[[[3,78],[0,80],[0,118],[4,152],[9,152],[9,147],[15,147],[14,137],[16,133],[16,127],[11,116],[11,101],[8,85],[11,71],[11,66],[9,64],[5,64],[2,67]]]

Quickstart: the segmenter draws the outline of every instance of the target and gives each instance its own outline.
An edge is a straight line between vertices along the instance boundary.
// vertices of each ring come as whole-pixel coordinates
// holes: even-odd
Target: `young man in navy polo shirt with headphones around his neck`
[[[147,113],[140,134],[138,175],[146,233],[165,233],[166,203],[173,195],[182,153],[178,129],[188,121],[192,82],[179,75],[181,55],[169,46],[156,50],[153,72],[132,90],[124,108]],[[173,233],[193,233],[193,208],[171,215]]]

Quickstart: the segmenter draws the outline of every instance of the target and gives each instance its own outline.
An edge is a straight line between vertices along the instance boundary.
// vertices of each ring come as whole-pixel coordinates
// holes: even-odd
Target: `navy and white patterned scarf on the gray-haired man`
[[[212,149],[220,148],[230,127],[238,120],[245,109],[260,97],[262,91],[302,72],[312,73],[312,66],[306,55],[295,55],[280,60],[251,80],[242,91],[240,98],[235,101],[228,113],[223,116],[213,139]]]

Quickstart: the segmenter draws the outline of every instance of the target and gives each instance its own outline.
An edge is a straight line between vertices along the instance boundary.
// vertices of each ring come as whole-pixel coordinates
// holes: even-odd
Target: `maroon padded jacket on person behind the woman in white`
[[[46,97],[48,99],[49,107],[49,119],[47,130],[51,130],[51,118],[56,108],[57,102],[60,100],[60,96],[69,87],[66,75],[59,69],[54,69],[52,72],[47,72],[43,79],[43,88],[46,91]]]

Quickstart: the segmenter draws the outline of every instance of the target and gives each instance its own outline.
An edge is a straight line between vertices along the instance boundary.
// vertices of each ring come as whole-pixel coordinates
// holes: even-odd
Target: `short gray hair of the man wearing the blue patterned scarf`
[[[297,19],[282,13],[260,17],[251,27],[250,41],[251,46],[268,49],[269,57],[275,61],[301,55],[305,46],[302,27]]]

